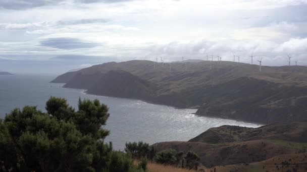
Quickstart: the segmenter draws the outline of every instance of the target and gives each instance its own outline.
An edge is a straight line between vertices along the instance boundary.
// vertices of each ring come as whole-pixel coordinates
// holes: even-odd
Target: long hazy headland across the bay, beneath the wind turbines
[[[307,120],[305,66],[262,66],[260,72],[258,65],[229,61],[132,60],[67,72],[52,82],[89,94],[197,108],[203,116],[259,123]],[[138,92],[127,94],[136,88]]]

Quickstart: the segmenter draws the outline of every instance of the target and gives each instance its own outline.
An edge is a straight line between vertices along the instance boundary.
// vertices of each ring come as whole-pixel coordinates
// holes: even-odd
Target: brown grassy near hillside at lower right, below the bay
[[[284,161],[284,158],[281,161],[281,156],[287,156],[286,154],[291,154],[288,159],[300,156],[307,150],[306,136],[306,122],[273,124],[259,128],[221,126],[211,128],[188,142],[161,142],[152,146],[157,152],[169,148],[183,152],[193,151],[200,156],[200,162],[204,166],[230,165],[227,168],[229,169],[234,164],[245,164],[241,167],[246,167],[248,163],[266,160],[268,164],[281,163]],[[269,162],[273,159],[275,162]],[[307,158],[302,161],[307,164]],[[291,163],[294,162],[293,160]],[[265,162],[255,164],[263,163]]]

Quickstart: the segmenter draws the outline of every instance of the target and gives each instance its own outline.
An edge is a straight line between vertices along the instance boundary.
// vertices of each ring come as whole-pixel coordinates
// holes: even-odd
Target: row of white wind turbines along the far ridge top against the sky
[[[287,55],[288,56],[288,65],[291,66],[291,55]],[[210,56],[207,54],[207,61],[214,61],[213,60],[213,57],[214,55],[212,54],[211,55],[211,60],[209,59]],[[235,53],[233,53],[233,62],[236,62],[236,57],[238,58],[238,62],[240,62],[240,56],[239,55],[235,55]],[[254,54],[252,53],[250,56],[250,59],[251,59],[251,63],[250,64],[253,64],[253,57]],[[219,54],[217,55],[217,59],[218,61],[221,63],[222,62],[222,56],[220,56]],[[260,60],[257,60],[259,62],[259,71],[262,71],[262,59],[263,57],[261,57]],[[160,62],[162,63],[162,66],[164,66],[164,59],[162,57],[160,57]],[[184,57],[182,57],[182,61],[184,61]],[[154,61],[154,69],[156,69],[156,63],[158,63],[158,57],[156,57],[156,60]],[[187,64],[185,64],[185,71],[187,71]],[[295,61],[295,65],[297,65],[297,60]],[[210,69],[212,69],[212,64],[210,63]],[[169,71],[171,72],[171,63],[169,63]]]

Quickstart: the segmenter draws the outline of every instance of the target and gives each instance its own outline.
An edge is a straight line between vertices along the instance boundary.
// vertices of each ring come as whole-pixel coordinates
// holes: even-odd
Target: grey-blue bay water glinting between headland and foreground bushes
[[[234,120],[199,117],[195,109],[175,109],[152,105],[138,100],[86,95],[82,90],[64,89],[63,84],[48,83],[53,75],[0,75],[0,118],[14,108],[25,105],[44,110],[50,96],[68,100],[76,107],[79,97],[98,99],[110,108],[106,128],[115,149],[122,149],[126,141],[145,141],[150,144],[162,141],[187,141],[211,127],[238,125],[258,127],[257,124]]]

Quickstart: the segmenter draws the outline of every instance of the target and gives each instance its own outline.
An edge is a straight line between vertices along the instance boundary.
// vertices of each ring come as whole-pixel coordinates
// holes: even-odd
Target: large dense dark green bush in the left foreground
[[[104,143],[109,113],[98,100],[79,99],[76,111],[51,97],[46,111],[26,106],[0,120],[0,171],[143,171]]]

